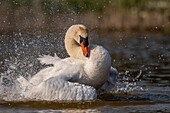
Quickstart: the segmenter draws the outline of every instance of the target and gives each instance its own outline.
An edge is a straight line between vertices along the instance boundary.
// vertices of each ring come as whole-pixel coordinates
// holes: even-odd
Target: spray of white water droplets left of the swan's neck
[[[64,35],[30,36],[21,33],[0,36],[0,100],[17,100],[21,90],[16,78],[30,79],[45,66],[37,58],[42,54],[58,53],[66,57]]]

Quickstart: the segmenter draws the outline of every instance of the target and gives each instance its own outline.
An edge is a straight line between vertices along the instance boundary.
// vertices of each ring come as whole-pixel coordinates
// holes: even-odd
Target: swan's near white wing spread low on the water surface
[[[40,100],[94,100],[95,88],[69,82],[59,77],[51,77],[25,92],[25,96]]]

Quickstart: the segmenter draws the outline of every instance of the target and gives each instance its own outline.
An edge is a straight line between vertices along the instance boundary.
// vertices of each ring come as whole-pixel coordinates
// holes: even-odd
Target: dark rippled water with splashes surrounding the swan
[[[36,59],[50,54],[67,57],[64,34],[0,36],[1,112],[170,112],[170,36],[110,34],[92,37],[112,56],[120,75],[116,87],[96,101],[17,101],[15,79],[30,79],[45,67]],[[141,74],[139,74],[141,73]],[[15,100],[15,101],[6,101]]]

